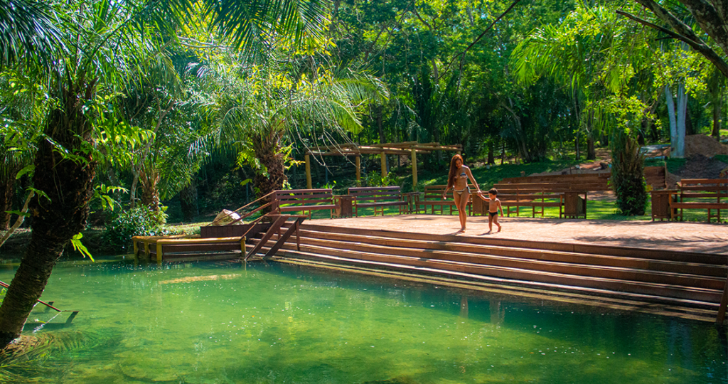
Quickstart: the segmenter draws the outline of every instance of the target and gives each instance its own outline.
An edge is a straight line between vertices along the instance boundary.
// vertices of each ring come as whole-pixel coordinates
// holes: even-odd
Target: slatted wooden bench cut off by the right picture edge
[[[721,209],[728,209],[727,200],[721,203],[721,197],[728,197],[728,179],[683,179],[678,183],[678,191],[678,199],[670,199],[671,219],[680,216],[682,221],[684,209],[707,209],[708,222],[713,217],[720,222]],[[713,216],[712,210],[717,214]]]

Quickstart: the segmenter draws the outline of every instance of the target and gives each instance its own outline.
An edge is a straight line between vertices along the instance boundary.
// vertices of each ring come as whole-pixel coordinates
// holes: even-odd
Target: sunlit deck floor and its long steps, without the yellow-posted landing
[[[300,246],[285,244],[276,257],[641,302],[714,320],[727,288],[725,227],[664,224],[519,218],[503,220],[504,232],[483,235],[487,220],[470,218],[466,234],[454,235],[459,224],[452,216],[318,220],[301,225]],[[249,243],[268,247],[256,238]]]

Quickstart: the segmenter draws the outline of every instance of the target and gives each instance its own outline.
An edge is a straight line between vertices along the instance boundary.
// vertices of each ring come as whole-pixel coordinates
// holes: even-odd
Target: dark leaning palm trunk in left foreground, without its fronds
[[[41,297],[55,263],[71,238],[86,226],[96,163],[82,148],[93,144],[91,125],[82,112],[93,97],[95,81],[81,78],[62,90],[60,106],[50,112],[45,135],[82,159],[68,160],[50,140],[41,138],[33,187],[47,197],[31,200],[32,235],[25,256],[0,305],[0,348],[15,340]]]

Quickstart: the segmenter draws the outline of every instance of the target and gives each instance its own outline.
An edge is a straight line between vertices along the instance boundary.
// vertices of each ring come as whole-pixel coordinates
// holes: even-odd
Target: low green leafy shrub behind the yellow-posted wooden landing
[[[158,224],[154,212],[146,207],[123,211],[106,225],[103,240],[107,246],[126,251],[133,236],[165,235],[167,231]]]

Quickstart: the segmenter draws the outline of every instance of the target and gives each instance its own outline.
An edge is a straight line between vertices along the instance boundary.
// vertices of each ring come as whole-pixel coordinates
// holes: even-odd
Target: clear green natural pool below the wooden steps
[[[60,262],[43,299],[81,310],[43,383],[728,383],[712,324],[277,263]]]

